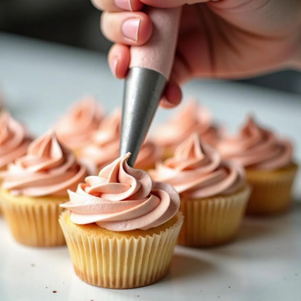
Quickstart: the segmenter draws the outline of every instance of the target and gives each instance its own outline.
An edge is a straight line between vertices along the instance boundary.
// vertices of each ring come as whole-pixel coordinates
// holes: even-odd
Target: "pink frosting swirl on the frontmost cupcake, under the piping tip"
[[[153,182],[147,172],[127,164],[128,153],[88,176],[76,192],[68,191],[70,220],[78,225],[96,223],[111,231],[148,230],[177,213],[180,198],[172,186]]]

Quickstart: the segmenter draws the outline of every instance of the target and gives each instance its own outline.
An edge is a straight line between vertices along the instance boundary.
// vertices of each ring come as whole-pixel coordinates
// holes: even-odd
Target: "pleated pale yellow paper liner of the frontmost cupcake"
[[[85,225],[75,227],[68,215],[64,212],[59,222],[76,275],[88,284],[114,289],[142,287],[163,278],[183,223],[178,213],[177,222],[160,235],[114,237],[93,235]]]

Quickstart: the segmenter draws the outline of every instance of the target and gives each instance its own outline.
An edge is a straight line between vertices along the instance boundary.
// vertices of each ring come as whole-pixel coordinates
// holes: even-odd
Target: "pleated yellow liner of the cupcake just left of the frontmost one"
[[[26,246],[51,247],[65,244],[58,218],[67,201],[28,197],[14,197],[1,191],[2,211],[14,239]]]

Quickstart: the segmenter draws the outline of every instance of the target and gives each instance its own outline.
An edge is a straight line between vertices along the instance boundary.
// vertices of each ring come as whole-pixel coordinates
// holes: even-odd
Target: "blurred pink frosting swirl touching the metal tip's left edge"
[[[91,173],[118,158],[120,129],[121,110],[116,109],[102,121],[93,135],[91,144],[80,151],[80,161],[88,166]]]

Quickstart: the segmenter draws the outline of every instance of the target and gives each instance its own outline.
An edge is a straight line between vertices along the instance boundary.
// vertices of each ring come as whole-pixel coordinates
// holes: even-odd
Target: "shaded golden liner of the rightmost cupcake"
[[[247,206],[249,215],[274,215],[286,211],[291,205],[291,190],[298,166],[272,171],[246,171],[252,193]]]

